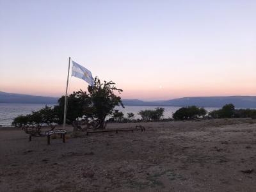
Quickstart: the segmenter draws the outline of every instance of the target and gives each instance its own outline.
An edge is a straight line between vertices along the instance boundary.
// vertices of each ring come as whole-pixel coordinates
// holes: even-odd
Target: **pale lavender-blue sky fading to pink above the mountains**
[[[123,99],[256,95],[256,1],[0,0],[0,91],[60,97],[68,57]],[[70,78],[68,92],[88,84]]]

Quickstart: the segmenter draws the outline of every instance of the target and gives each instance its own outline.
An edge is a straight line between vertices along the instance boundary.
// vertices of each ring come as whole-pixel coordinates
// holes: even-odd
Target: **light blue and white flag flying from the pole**
[[[77,77],[79,79],[83,79],[87,83],[89,83],[91,86],[94,84],[94,80],[92,77],[92,73],[87,68],[83,67],[82,65],[79,65],[75,61],[72,61],[72,75],[74,77]]]

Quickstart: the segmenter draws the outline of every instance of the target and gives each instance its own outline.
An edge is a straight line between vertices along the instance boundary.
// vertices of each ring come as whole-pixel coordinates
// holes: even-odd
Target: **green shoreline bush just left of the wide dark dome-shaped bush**
[[[155,110],[141,110],[138,115],[141,116],[143,120],[160,120],[163,117],[164,108],[156,108]]]

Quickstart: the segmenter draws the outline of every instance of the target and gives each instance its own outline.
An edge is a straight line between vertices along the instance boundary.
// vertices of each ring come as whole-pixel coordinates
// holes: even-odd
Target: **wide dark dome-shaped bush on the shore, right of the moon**
[[[175,120],[191,120],[200,116],[205,116],[207,111],[204,108],[198,108],[196,106],[188,106],[180,108],[173,113]]]

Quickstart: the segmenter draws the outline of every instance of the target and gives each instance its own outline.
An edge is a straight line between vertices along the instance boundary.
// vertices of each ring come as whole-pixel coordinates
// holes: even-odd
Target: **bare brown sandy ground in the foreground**
[[[51,145],[2,127],[0,191],[256,191],[256,120],[140,125]]]

